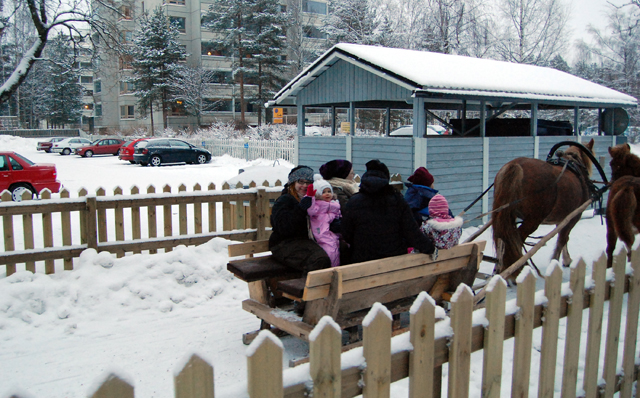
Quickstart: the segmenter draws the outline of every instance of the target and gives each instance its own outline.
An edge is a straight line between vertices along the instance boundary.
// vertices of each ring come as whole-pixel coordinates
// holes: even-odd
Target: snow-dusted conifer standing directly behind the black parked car
[[[133,68],[129,81],[133,83],[140,114],[144,116],[149,112],[151,116],[152,135],[154,105],[160,105],[164,128],[167,128],[171,79],[181,67],[179,62],[187,58],[178,41],[179,34],[177,24],[170,23],[162,8],[157,7],[152,15],[143,14],[129,49]]]

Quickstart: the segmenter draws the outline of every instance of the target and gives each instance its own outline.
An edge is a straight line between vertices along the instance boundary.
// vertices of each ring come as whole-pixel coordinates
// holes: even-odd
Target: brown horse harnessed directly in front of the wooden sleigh
[[[593,144],[592,139],[586,145],[592,153]],[[498,272],[502,272],[522,257],[525,239],[535,232],[540,224],[559,224],[589,199],[589,157],[573,146],[562,153],[557,152],[557,156],[572,161],[581,172],[576,173],[570,171],[569,167],[563,169],[562,165],[531,158],[514,159],[498,171],[494,182],[492,213],[495,247],[499,247],[499,241],[504,242],[504,254]],[[508,207],[498,210],[505,205]],[[520,226],[516,224],[518,218],[522,220]],[[560,254],[563,254],[565,266],[571,264],[566,247],[569,232],[579,220],[578,215],[558,233],[553,258],[559,260]],[[500,253],[498,257],[501,257]],[[514,273],[510,279],[515,279],[517,274],[518,272]]]

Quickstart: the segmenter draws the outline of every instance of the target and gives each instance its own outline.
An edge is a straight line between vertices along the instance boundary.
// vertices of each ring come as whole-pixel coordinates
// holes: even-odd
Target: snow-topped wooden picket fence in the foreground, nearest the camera
[[[636,365],[638,311],[640,308],[640,253],[635,251],[631,271],[626,274],[626,253],[616,256],[613,273],[606,276],[604,254],[592,265],[585,282],[586,264],[571,268],[568,286],[562,286],[562,268],[553,262],[547,269],[544,292],[536,299],[536,277],[525,267],[519,278],[515,306],[506,303],[505,281],[494,276],[487,289],[486,308],[480,324],[474,324],[473,292],[461,285],[451,300],[448,317],[436,317],[435,302],[421,293],[410,312],[410,331],[392,340],[390,313],[374,305],[363,323],[362,348],[341,354],[340,328],[323,318],[310,339],[309,363],[283,372],[282,344],[269,331],[262,331],[247,354],[247,394],[251,398],[389,397],[392,382],[409,378],[409,397],[440,397],[442,365],[448,364],[446,396],[466,398],[470,394],[471,353],[483,350],[482,397],[500,397],[502,377],[511,373],[512,397],[530,393],[533,330],[541,327],[538,397],[553,397],[556,375],[562,374],[561,396],[632,396],[638,379]],[[567,289],[568,287],[568,289]],[[627,295],[626,324],[622,325],[623,300]],[[606,333],[603,334],[604,302],[609,301]],[[536,302],[540,304],[536,304]],[[584,309],[589,309],[586,345],[581,346]],[[567,318],[562,372],[556,368],[560,319]],[[438,328],[445,321],[450,326]],[[446,326],[446,324],[445,324]],[[624,326],[624,336],[621,331]],[[443,332],[444,330],[444,332]],[[601,342],[604,337],[604,355]],[[238,336],[240,338],[240,336]],[[513,366],[503,369],[504,341],[514,338]],[[410,344],[407,344],[409,342]],[[537,346],[538,344],[536,344]],[[618,366],[618,352],[622,362]],[[358,351],[360,350],[360,351]],[[349,356],[349,358],[346,358]],[[348,359],[348,360],[345,360]],[[582,385],[578,386],[580,359],[584,361]],[[346,362],[346,364],[345,364]],[[600,364],[602,364],[600,366]],[[479,369],[480,364],[474,363]],[[621,373],[616,373],[622,369]],[[303,371],[303,372],[302,372]],[[284,380],[284,381],[283,381]],[[560,381],[560,380],[559,380]],[[213,368],[197,356],[175,376],[175,396],[214,397]],[[242,388],[242,386],[239,386]],[[508,387],[508,386],[507,386]],[[92,395],[94,398],[128,398],[134,386],[111,374]],[[397,395],[394,395],[397,396]]]

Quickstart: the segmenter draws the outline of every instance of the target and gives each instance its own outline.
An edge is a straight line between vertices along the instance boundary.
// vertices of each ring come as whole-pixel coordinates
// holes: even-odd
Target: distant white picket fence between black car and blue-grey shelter
[[[188,140],[192,145],[207,149],[213,156],[229,155],[245,160],[284,159],[293,162],[295,155],[295,141],[249,140],[243,139],[215,139],[196,141]]]

